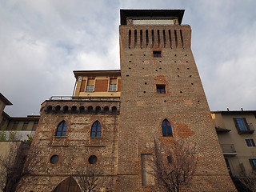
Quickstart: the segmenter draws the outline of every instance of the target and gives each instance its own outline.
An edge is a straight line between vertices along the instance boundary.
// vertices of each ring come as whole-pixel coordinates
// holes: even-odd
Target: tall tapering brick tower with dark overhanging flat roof
[[[186,139],[197,146],[200,160],[193,190],[235,191],[191,51],[191,29],[181,25],[183,14],[121,10],[117,191],[154,191],[142,173],[154,138],[163,143]],[[165,119],[172,137],[162,133]]]

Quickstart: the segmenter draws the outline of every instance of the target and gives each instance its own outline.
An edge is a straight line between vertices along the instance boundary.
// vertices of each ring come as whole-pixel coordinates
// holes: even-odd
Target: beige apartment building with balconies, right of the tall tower
[[[232,177],[256,169],[255,110],[213,111],[212,117],[226,166]]]

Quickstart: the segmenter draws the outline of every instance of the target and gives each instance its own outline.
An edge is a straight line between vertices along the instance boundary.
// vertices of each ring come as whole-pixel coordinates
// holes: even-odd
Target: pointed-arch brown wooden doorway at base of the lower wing
[[[63,180],[52,192],[81,192],[78,183],[72,177]]]

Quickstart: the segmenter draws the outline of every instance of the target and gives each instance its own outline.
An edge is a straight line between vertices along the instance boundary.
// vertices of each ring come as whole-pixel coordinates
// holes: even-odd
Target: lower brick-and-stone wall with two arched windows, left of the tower
[[[119,102],[97,102],[97,106],[117,106]],[[24,178],[26,182],[20,191],[51,191],[68,176],[77,179],[76,174],[86,166],[98,166],[103,171],[103,180],[106,182],[103,191],[111,190],[114,186],[114,174],[117,165],[118,143],[118,113],[75,112],[67,113],[49,111],[49,107],[94,106],[94,102],[85,101],[46,101],[42,104],[41,118],[34,135],[31,148],[39,150],[40,159],[33,176]],[[45,110],[46,109],[46,110]],[[48,109],[48,110],[47,110]],[[110,108],[111,109],[111,108]],[[74,112],[74,111],[73,111]],[[62,121],[67,124],[65,137],[55,136],[58,124]],[[101,137],[90,137],[91,126],[94,122],[101,123]],[[50,163],[50,158],[58,155],[58,162]],[[95,155],[98,160],[90,164],[88,159]]]

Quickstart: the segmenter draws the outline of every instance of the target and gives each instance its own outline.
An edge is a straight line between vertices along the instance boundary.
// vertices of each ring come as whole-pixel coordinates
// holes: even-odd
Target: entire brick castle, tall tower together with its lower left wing
[[[121,70],[74,71],[73,97],[42,103],[21,191],[80,191],[77,170],[98,167],[96,191],[157,191],[145,162],[154,139],[198,151],[191,191],[235,191],[191,51],[184,10],[121,10]],[[188,190],[188,189],[187,189]]]

